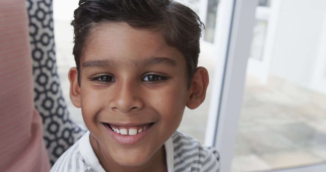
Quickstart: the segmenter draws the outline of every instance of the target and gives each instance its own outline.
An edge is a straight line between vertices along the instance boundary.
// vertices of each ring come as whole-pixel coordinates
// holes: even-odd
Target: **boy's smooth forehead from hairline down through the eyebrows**
[[[175,47],[167,45],[160,32],[135,29],[125,22],[96,25],[86,42],[81,58],[83,67],[95,63],[110,66],[185,64],[183,54]]]

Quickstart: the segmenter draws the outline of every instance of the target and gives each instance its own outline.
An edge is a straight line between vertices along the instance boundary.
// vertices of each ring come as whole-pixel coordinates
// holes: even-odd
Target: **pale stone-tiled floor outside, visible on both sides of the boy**
[[[81,110],[69,98],[67,73],[74,66],[72,27],[55,21],[56,58],[61,88],[72,118],[83,123]],[[215,62],[200,57],[213,78]],[[211,93],[195,110],[185,109],[179,130],[204,140]],[[313,103],[312,103],[313,102]],[[318,93],[271,78],[267,86],[247,77],[233,172],[265,171],[326,162],[326,98]]]

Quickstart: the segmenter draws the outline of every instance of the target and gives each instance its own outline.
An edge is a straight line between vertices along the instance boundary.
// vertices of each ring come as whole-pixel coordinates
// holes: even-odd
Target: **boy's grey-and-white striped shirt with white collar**
[[[89,131],[53,165],[51,172],[104,172],[89,141]],[[219,172],[215,154],[198,140],[176,131],[165,143],[168,172]]]

